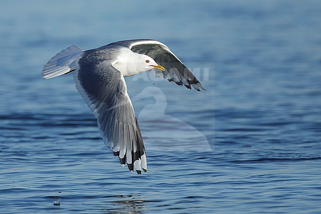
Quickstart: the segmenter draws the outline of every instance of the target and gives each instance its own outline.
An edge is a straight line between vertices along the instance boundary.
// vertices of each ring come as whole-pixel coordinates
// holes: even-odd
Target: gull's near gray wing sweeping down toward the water
[[[122,74],[110,61],[97,60],[90,52],[84,53],[79,65],[74,73],[76,87],[98,119],[104,143],[121,165],[127,162],[130,171],[147,171],[143,138]]]

